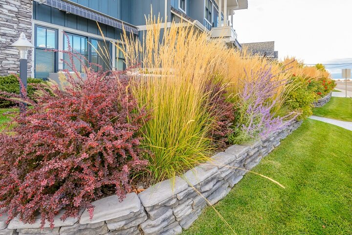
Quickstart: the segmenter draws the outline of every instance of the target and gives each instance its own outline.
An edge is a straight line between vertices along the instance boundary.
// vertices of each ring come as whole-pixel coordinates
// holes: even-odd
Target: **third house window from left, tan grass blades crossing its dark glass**
[[[103,40],[90,39],[90,63],[96,64],[92,65],[94,71],[111,70],[111,60],[110,60],[110,43],[104,42]],[[97,65],[100,65],[98,67]]]

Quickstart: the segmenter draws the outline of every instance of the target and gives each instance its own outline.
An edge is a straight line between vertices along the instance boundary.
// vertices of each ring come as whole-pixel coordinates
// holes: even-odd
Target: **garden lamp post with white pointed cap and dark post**
[[[27,89],[27,57],[28,50],[34,46],[27,40],[24,33],[21,33],[20,38],[14,42],[11,47],[16,47],[20,51],[20,78],[24,88]],[[20,94],[23,97],[20,84]],[[23,106],[25,107],[25,105]]]

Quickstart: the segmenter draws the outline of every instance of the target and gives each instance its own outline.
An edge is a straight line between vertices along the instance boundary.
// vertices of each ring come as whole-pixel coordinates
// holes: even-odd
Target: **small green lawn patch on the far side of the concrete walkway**
[[[329,103],[314,108],[313,115],[343,121],[352,121],[352,98],[331,97]]]

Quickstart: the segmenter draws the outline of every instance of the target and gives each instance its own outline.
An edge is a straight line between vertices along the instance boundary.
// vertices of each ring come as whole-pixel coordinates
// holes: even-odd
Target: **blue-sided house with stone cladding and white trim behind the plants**
[[[142,36],[151,9],[154,16],[167,18],[168,27],[172,21],[190,23],[202,31],[212,30],[211,37],[228,46],[241,48],[232,16],[247,7],[248,0],[0,0],[0,75],[19,71],[18,52],[10,45],[21,32],[35,46],[28,56],[32,77],[46,79],[49,73],[69,69],[62,62],[66,55],[47,50],[67,49],[66,37],[89,62],[104,70],[124,70],[123,53],[114,44],[122,43],[123,29]],[[99,56],[101,47],[108,48],[109,57]],[[76,67],[81,70],[78,61]]]

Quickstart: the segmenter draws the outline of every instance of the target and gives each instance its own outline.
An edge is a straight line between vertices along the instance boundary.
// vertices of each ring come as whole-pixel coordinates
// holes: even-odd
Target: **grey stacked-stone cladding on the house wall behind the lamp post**
[[[32,0],[0,0],[0,76],[20,72],[20,55],[10,47],[23,32],[31,42]],[[33,42],[32,42],[33,44]],[[28,54],[28,76],[31,74],[31,51]]]

